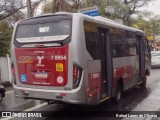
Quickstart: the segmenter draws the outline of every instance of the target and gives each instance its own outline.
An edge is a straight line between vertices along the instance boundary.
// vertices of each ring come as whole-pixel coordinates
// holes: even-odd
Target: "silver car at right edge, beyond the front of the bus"
[[[160,67],[160,51],[152,51],[151,56],[151,66]]]

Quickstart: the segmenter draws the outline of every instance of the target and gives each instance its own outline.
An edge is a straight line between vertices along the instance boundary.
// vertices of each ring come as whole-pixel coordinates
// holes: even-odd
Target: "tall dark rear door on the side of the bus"
[[[98,28],[101,56],[101,99],[111,95],[112,58],[110,50],[109,32]]]

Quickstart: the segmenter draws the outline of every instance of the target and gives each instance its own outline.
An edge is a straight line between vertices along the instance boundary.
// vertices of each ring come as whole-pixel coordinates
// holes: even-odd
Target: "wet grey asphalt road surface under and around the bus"
[[[100,104],[99,106],[72,106],[72,105],[63,105],[63,104],[51,104],[48,105],[44,101],[39,100],[24,100],[22,98],[16,98],[12,92],[12,87],[7,87],[6,97],[3,99],[0,104],[0,111],[48,111],[48,113],[53,115],[58,115],[55,117],[56,120],[59,119],[82,119],[81,114],[88,115],[89,117],[83,118],[87,120],[101,120],[101,119],[125,119],[130,120],[130,118],[119,117],[107,117],[108,113],[117,112],[117,111],[128,111],[132,113],[134,111],[159,111],[160,108],[160,69],[153,69],[151,76],[147,78],[147,87],[142,89],[139,86],[136,86],[127,92],[124,93],[122,100],[119,104],[113,103],[111,100]],[[156,113],[155,113],[156,114]],[[69,115],[70,117],[63,117],[63,115]],[[72,116],[73,115],[73,116]],[[92,116],[93,115],[93,116]],[[7,120],[10,118],[7,118]],[[22,118],[12,118],[14,120]],[[24,120],[32,119],[43,119],[50,120],[50,117],[43,118],[23,118]],[[157,117],[141,117],[132,119],[155,119]],[[4,120],[4,119],[2,119]],[[6,119],[5,119],[6,120]]]

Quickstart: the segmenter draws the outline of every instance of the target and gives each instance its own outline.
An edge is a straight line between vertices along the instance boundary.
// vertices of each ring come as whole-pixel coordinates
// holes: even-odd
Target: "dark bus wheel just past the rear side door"
[[[115,96],[113,98],[115,103],[118,103],[122,97],[122,86],[120,83],[116,86]]]

